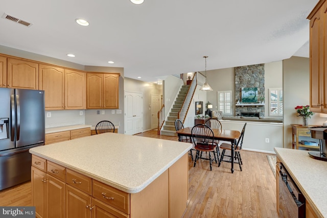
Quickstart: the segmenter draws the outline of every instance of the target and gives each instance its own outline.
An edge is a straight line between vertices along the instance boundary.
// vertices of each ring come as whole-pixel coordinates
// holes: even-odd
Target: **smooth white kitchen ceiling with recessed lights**
[[[207,70],[309,57],[306,18],[317,2],[2,1],[0,16],[7,13],[33,25],[1,18],[0,44],[82,65],[124,67],[125,77],[152,82],[203,71],[205,55]],[[75,18],[90,25],[79,26]]]

